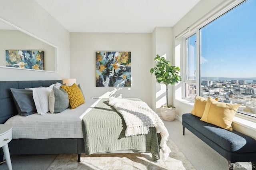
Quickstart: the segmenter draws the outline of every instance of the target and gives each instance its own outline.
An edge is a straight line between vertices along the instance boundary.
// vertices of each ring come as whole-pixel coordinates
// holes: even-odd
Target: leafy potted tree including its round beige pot
[[[156,65],[156,66],[155,66]],[[180,68],[170,65],[170,61],[158,54],[154,58],[154,67],[150,69],[151,74],[155,74],[158,83],[166,85],[166,105],[161,106],[162,118],[166,121],[173,121],[176,117],[176,107],[168,103],[168,86],[181,81]]]

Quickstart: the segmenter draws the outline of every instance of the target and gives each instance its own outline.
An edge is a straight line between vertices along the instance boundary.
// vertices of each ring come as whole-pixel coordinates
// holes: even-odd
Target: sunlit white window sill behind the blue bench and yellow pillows
[[[185,99],[176,99],[177,101],[184,103],[186,105],[189,105],[191,107],[194,106],[194,101],[189,101],[189,100],[185,100]],[[246,128],[250,128],[254,131],[256,131],[256,119],[254,120],[254,118],[252,118],[253,120],[248,120],[249,118],[246,117],[246,115],[243,115],[241,113],[236,113],[236,115],[234,116],[233,122],[246,127]]]

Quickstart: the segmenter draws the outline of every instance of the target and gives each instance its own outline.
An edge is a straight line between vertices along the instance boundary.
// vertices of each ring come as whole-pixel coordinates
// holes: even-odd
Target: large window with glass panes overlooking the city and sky
[[[255,28],[256,1],[246,0],[188,36],[184,97],[218,97],[239,103],[237,112],[256,117]]]

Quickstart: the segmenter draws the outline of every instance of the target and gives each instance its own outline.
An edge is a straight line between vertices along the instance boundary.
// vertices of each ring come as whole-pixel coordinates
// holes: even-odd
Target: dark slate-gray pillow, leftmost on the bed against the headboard
[[[12,92],[14,104],[20,116],[28,116],[37,113],[32,90],[13,88],[10,90]]]

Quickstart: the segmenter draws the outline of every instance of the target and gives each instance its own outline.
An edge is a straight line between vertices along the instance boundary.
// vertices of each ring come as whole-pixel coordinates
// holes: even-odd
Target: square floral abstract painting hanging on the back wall
[[[96,52],[96,87],[130,87],[131,52]]]

